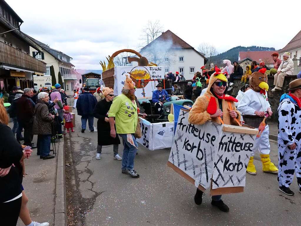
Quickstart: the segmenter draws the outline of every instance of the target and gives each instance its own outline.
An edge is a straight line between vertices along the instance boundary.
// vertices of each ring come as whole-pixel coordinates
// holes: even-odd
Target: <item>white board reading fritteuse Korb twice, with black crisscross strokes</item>
[[[223,131],[227,125],[209,121],[190,124],[188,115],[180,110],[169,164],[191,177],[196,187],[244,187],[256,135]]]

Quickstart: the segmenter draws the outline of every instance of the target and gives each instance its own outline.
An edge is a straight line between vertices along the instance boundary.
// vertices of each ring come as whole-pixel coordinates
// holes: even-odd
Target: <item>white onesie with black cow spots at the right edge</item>
[[[279,186],[289,187],[296,171],[301,188],[301,110],[286,98],[280,103],[278,113]],[[290,150],[288,145],[293,143],[296,143],[296,149]]]

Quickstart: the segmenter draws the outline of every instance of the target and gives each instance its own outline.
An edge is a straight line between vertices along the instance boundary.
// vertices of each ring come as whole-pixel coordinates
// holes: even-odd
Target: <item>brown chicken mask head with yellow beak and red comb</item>
[[[266,68],[262,68],[257,72],[253,72],[250,76],[250,88],[257,93],[268,91],[268,76],[265,74]]]

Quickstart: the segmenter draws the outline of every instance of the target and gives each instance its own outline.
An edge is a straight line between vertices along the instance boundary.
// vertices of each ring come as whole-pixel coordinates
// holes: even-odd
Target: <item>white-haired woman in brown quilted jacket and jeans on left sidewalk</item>
[[[37,154],[40,155],[40,159],[54,158],[54,155],[49,155],[51,122],[54,119],[54,115],[49,114],[48,100],[48,93],[41,92],[38,94],[35,115],[33,118],[33,134],[38,135]]]

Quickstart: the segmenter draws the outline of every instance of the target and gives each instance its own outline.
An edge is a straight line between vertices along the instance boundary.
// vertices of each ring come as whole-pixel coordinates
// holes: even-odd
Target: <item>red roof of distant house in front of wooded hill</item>
[[[245,59],[260,62],[265,62],[267,67],[274,67],[274,61],[271,57],[275,51],[245,51],[238,53],[238,61],[243,62]],[[239,63],[240,64],[240,63]]]

